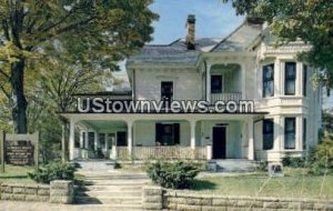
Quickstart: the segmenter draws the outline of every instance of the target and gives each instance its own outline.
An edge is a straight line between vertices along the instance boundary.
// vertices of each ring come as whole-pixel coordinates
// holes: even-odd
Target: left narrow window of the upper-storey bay
[[[263,98],[273,97],[274,96],[274,64],[264,66],[262,69],[262,87]]]

